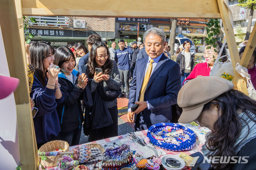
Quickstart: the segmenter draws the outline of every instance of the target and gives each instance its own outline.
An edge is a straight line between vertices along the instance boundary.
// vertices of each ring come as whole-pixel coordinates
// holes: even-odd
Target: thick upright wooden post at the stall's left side
[[[28,90],[21,1],[16,0],[17,6],[15,5],[15,0],[0,0],[0,3],[0,25],[10,76],[20,79],[20,84],[14,92],[14,97],[17,111],[21,168],[34,170],[37,168],[38,157],[35,154],[37,147]]]

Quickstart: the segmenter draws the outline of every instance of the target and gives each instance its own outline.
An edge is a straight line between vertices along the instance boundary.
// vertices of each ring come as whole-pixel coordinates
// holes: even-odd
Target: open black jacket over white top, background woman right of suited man
[[[185,50],[182,50],[178,56],[176,62],[180,65],[180,71],[181,71],[181,76],[184,76],[185,68],[186,68],[186,63],[185,63],[185,55],[184,55]],[[194,52],[190,51],[190,68],[191,71],[194,68]]]

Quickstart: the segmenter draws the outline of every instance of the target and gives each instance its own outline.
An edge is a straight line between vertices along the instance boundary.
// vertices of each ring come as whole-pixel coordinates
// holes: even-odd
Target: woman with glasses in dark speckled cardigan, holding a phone
[[[100,73],[96,73],[95,68],[102,70]],[[91,52],[89,55],[89,61],[84,66],[84,73],[90,79],[88,81],[91,87],[91,93],[97,92],[97,88],[103,87],[105,91],[119,90],[121,88],[121,79],[116,62],[110,60],[110,52],[107,46],[102,42],[96,42],[92,45]],[[99,85],[99,86],[98,86]],[[102,99],[104,100],[104,99]],[[90,128],[90,141],[100,140],[103,138],[113,137],[118,135],[118,110],[117,110],[117,99],[112,101],[105,101],[106,107],[111,114],[113,123],[104,126],[97,130]],[[94,105],[97,103],[93,103]],[[103,106],[100,106],[103,107]],[[91,113],[92,115],[94,113]],[[106,119],[101,117],[100,119]]]

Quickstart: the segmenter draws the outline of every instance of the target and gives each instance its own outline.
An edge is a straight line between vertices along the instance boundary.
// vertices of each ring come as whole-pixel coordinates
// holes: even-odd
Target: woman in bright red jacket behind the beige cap
[[[213,46],[216,46],[216,47],[214,48]],[[206,45],[204,47],[204,52],[203,52],[203,56],[206,62],[196,64],[194,69],[191,71],[190,75],[183,81],[183,85],[187,81],[196,78],[198,75],[210,76],[210,71],[213,68],[215,59],[219,55],[221,47],[222,47],[222,42],[220,41],[215,41],[215,45]],[[226,55],[225,48],[223,49],[220,56],[224,56],[224,55]],[[223,57],[221,60],[222,62],[225,62],[227,59],[228,59],[227,57]]]

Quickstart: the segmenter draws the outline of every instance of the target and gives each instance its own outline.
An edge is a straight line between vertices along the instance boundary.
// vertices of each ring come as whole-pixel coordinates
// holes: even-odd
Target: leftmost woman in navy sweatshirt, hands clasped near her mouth
[[[56,111],[64,101],[58,83],[59,67],[53,64],[54,50],[46,42],[34,42],[30,47],[31,64],[36,66],[30,93],[38,112],[33,118],[37,147],[59,140],[60,124]]]

